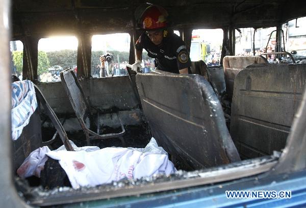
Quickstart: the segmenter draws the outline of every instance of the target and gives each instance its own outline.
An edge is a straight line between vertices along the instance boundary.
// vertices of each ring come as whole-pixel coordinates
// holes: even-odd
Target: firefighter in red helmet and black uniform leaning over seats
[[[190,57],[181,37],[168,30],[167,11],[159,6],[150,5],[140,18],[140,28],[144,31],[135,44],[136,61],[132,70],[141,69],[142,50],[155,59],[157,70],[176,74],[188,74]],[[190,73],[191,74],[191,73]]]

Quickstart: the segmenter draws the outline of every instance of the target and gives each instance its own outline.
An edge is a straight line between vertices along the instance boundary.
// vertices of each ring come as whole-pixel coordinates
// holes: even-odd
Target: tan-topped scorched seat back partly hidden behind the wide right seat
[[[268,64],[268,61],[262,56],[225,56],[223,58],[226,94],[230,100],[233,97],[234,81],[237,74],[246,66],[254,63]]]

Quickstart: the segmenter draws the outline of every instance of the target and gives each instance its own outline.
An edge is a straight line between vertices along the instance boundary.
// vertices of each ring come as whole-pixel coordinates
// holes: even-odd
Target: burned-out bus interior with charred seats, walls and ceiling
[[[211,64],[213,58],[208,60],[206,54],[206,58],[192,60],[189,75],[165,73],[154,67],[149,73],[135,73],[126,67],[135,62],[135,43],[141,34],[136,18],[141,8],[147,6],[141,1],[10,2],[9,56],[11,65],[15,65],[9,73],[10,82],[31,80],[37,97],[37,108],[29,124],[17,140],[10,140],[8,148],[12,189],[21,201],[47,206],[109,200],[305,169],[305,164],[294,158],[305,158],[299,150],[305,147],[301,129],[305,125],[302,115],[306,113],[306,45],[288,48],[290,32],[284,28],[294,21],[293,28],[305,29],[306,24],[302,23],[306,21],[298,19],[306,17],[306,3],[149,3],[168,11],[169,31],[180,34],[190,53],[194,38],[198,38],[193,30],[206,30],[214,36],[213,30],[221,29],[217,47],[199,43],[200,50],[204,45],[206,51],[208,47],[211,51],[219,50],[215,53],[218,64]],[[245,51],[249,54],[241,56],[236,53],[241,48],[237,43],[238,38],[244,37],[241,34],[245,28],[253,39],[250,50]],[[264,36],[261,45],[265,51],[256,54],[254,37],[265,28],[275,28],[275,32],[271,29],[272,39]],[[108,77],[99,77],[99,55],[116,49],[94,37],[112,34],[125,34],[124,44],[117,49],[124,48],[125,58],[113,52],[113,71]],[[77,43],[73,49],[53,51],[49,44],[42,51],[45,39],[59,36],[73,37]],[[306,33],[296,37],[305,40]],[[20,52],[13,43],[17,41]],[[97,45],[101,48],[94,51]],[[268,45],[273,46],[273,51],[269,51]],[[108,51],[103,48],[106,46]],[[70,65],[65,65],[68,61],[61,62],[64,59]],[[123,62],[125,65],[121,65]],[[151,137],[168,153],[177,172],[73,189],[58,161],[48,159],[40,178],[17,175],[24,159],[43,146],[56,150],[64,145],[67,151],[75,151],[70,140],[77,147],[144,148]],[[293,147],[296,155],[289,151]]]

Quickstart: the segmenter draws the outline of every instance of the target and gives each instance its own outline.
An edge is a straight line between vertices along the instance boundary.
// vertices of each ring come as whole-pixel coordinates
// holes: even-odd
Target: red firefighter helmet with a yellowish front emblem
[[[168,12],[159,6],[149,6],[141,16],[141,28],[144,30],[158,30],[167,27]]]

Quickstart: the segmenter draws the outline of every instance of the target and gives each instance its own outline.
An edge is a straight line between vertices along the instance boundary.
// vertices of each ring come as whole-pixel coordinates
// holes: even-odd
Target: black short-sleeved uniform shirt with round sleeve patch
[[[186,44],[174,33],[163,38],[160,45],[151,42],[146,33],[143,33],[135,44],[137,50],[146,50],[148,56],[155,58],[155,66],[158,70],[179,74],[179,70],[188,68],[190,72],[190,58],[186,50]]]

